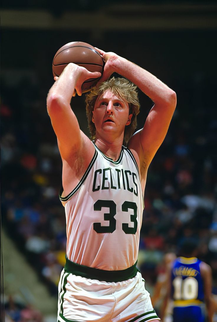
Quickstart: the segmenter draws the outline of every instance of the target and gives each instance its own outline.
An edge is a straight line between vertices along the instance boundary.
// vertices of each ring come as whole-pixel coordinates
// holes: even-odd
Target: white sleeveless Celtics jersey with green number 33
[[[69,260],[101,270],[124,270],[136,262],[144,202],[130,150],[122,147],[113,161],[95,146],[82,179],[60,200]]]

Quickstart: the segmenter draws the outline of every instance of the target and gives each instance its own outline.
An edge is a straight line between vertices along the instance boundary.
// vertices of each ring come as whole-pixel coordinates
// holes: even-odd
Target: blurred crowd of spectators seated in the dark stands
[[[212,80],[194,75],[189,84],[189,91],[187,81],[174,80],[171,86],[177,110],[148,170],[138,263],[153,292],[164,255],[176,253],[183,238],[193,236],[198,257],[212,268],[212,292],[217,294],[217,120],[206,98]],[[2,218],[10,237],[57,295],[66,223],[59,201],[62,164],[46,112],[48,88],[31,78],[14,87],[2,84]],[[84,99],[77,99],[79,115]],[[81,127],[87,128],[83,115]]]

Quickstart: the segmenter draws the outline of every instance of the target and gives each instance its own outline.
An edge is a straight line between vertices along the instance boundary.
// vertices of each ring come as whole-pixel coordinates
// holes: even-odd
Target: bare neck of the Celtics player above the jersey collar
[[[123,140],[119,139],[114,142],[109,142],[104,140],[103,138],[96,138],[95,145],[104,153],[104,155],[108,156],[109,158],[113,159],[113,161],[117,161],[121,149],[122,149]]]

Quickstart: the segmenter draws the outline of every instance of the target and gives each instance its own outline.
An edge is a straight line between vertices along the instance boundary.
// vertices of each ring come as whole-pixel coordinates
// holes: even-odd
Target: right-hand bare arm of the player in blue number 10
[[[204,302],[207,309],[208,322],[212,322],[213,303],[212,303],[212,270],[211,267],[204,263],[200,263],[200,273],[203,279]]]

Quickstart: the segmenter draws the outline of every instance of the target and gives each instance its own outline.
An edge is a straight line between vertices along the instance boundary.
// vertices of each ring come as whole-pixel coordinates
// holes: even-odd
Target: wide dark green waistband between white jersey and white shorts
[[[99,270],[84,265],[73,263],[66,257],[65,271],[73,275],[85,277],[86,279],[97,279],[105,282],[122,282],[136,276],[138,269],[135,264],[126,270]]]

